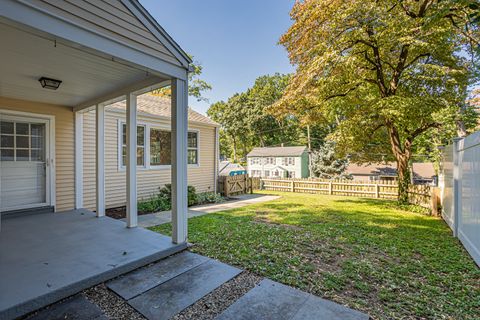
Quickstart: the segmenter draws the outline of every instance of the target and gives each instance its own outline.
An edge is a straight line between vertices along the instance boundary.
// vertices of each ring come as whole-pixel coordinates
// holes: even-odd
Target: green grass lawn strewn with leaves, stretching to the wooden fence
[[[190,219],[192,251],[376,319],[479,319],[479,268],[441,219],[389,201],[278,194]]]

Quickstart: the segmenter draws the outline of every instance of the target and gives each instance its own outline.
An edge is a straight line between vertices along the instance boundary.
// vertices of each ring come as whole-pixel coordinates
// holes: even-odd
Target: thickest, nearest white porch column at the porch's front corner
[[[172,79],[172,241],[187,241],[187,82]]]

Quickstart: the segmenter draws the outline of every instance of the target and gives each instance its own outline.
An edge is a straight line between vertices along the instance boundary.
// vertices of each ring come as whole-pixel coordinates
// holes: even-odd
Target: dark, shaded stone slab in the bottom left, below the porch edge
[[[51,305],[29,320],[108,320],[100,308],[81,294]]]

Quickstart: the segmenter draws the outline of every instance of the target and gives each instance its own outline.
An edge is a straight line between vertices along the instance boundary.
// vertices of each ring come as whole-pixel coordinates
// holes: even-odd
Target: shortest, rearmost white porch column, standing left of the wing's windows
[[[96,106],[96,183],[97,183],[97,217],[105,216],[105,106]]]

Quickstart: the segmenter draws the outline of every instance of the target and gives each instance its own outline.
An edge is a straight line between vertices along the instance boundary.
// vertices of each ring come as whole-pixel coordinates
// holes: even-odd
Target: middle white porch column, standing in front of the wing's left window
[[[137,226],[137,96],[127,94],[127,227]]]

